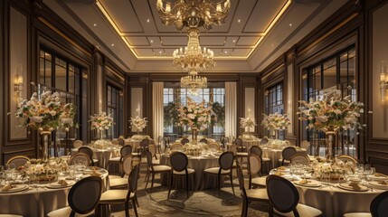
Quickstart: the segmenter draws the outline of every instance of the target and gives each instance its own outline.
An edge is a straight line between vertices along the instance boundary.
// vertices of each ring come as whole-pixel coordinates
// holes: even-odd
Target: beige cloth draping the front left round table
[[[101,174],[102,188],[105,192],[109,189],[108,171],[103,170]],[[60,176],[60,179],[63,177]],[[47,182],[38,184],[37,188],[28,187],[27,184],[28,188],[16,193],[0,192],[0,214],[13,213],[24,217],[44,217],[53,210],[68,206],[67,196],[71,186],[51,188],[49,184]]]

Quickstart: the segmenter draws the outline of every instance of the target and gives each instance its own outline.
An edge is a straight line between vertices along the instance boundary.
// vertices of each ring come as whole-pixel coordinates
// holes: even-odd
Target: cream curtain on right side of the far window
[[[236,137],[236,82],[225,82],[225,137]]]

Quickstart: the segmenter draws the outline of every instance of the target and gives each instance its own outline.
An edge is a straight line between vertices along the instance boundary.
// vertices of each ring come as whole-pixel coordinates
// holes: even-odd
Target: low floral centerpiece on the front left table
[[[30,179],[39,181],[52,181],[69,168],[65,160],[61,158],[50,158],[48,161],[42,159],[31,159],[18,168],[19,172]]]

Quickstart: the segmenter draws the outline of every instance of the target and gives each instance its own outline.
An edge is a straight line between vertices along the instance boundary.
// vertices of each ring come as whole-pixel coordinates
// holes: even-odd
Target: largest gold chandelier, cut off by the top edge
[[[231,8],[230,0],[213,3],[210,0],[176,0],[175,3],[157,0],[162,23],[175,24],[177,30],[186,27],[201,27],[207,31],[212,24],[223,24]]]

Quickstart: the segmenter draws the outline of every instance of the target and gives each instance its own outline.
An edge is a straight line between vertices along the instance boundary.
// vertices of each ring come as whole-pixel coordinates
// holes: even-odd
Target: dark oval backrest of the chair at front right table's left
[[[269,175],[266,179],[270,205],[278,212],[297,212],[299,194],[294,184],[279,175]]]

